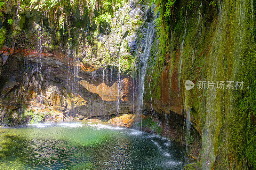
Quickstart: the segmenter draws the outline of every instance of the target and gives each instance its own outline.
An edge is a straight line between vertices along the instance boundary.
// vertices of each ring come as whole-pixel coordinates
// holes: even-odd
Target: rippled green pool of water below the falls
[[[0,128],[0,169],[183,169],[180,144],[105,123]]]

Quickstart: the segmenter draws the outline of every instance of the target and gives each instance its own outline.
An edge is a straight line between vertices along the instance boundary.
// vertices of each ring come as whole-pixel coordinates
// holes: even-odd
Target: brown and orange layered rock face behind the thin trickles
[[[54,51],[40,54],[37,50],[16,48],[3,48],[1,69],[3,67],[0,94],[4,113],[19,109],[21,104],[40,106],[36,112],[42,108],[63,112],[65,118],[62,120],[69,116],[82,119],[90,115],[117,113],[115,67],[109,66],[104,70],[108,81],[102,82],[102,68],[96,70],[91,65],[73,63],[73,58]],[[41,75],[38,74],[40,69]],[[120,82],[119,111],[126,113],[132,109],[132,81],[127,76]],[[8,109],[10,106],[13,108]]]

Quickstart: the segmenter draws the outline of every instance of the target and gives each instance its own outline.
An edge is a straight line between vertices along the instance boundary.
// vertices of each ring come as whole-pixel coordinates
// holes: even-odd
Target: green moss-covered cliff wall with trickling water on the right
[[[169,1],[161,3],[145,104],[184,115],[200,133],[199,163],[185,169],[255,168],[256,2],[176,1],[173,18],[164,17]],[[195,87],[186,90],[186,80]],[[205,89],[197,89],[199,81]],[[213,89],[208,81],[216,83]],[[234,81],[234,89],[216,89],[217,81]],[[242,89],[236,81],[244,82]]]

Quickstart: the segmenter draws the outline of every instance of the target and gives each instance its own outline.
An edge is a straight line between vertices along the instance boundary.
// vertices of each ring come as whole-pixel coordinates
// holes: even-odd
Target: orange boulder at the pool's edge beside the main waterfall
[[[110,119],[108,121],[108,123],[112,123],[116,126],[123,126],[123,127],[131,128],[133,125],[134,117],[135,117],[135,115],[133,115],[133,114],[130,114],[130,115],[124,114],[122,116]]]

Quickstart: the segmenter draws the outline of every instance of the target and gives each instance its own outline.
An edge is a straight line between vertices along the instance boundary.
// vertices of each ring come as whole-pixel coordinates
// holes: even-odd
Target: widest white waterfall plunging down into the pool
[[[146,34],[146,41],[145,41],[145,49],[143,51],[142,56],[140,57],[140,78],[139,78],[139,96],[138,96],[138,108],[137,113],[141,113],[142,118],[142,109],[143,109],[143,94],[144,94],[144,78],[146,75],[146,69],[148,64],[148,59],[150,58],[150,49],[151,45],[154,41],[154,20],[151,23],[148,23],[148,30]]]

